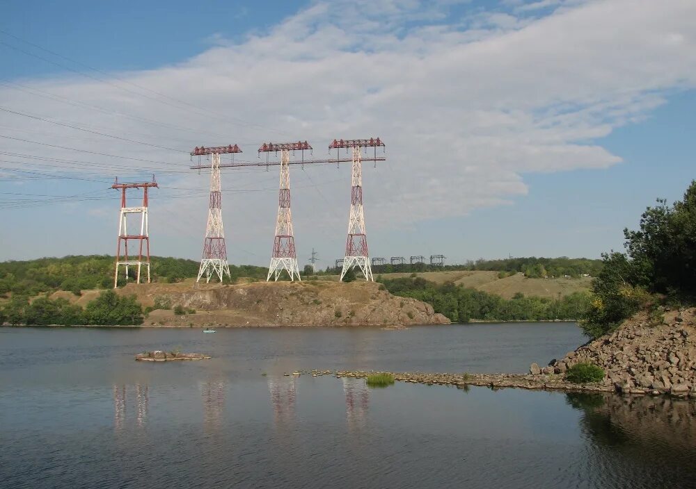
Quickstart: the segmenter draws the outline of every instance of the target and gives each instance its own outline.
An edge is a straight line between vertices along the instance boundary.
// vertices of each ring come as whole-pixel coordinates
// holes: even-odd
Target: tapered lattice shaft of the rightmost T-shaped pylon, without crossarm
[[[354,267],[359,267],[365,280],[374,281],[370,257],[367,253],[367,235],[365,235],[365,214],[363,213],[363,169],[361,163],[360,146],[353,149],[353,169],[351,178],[351,206],[348,219],[348,238],[346,240],[346,254],[343,258],[343,270],[341,280],[346,272]]]

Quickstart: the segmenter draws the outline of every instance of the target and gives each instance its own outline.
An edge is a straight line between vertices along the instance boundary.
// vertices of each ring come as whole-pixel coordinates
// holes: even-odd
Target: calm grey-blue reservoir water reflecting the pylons
[[[572,323],[0,328],[1,488],[693,488],[694,404],[294,370],[525,372]],[[212,354],[141,363],[150,349]]]

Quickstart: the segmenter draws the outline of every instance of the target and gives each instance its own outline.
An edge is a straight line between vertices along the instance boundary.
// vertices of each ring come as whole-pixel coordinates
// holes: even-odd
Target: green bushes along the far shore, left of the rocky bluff
[[[23,295],[13,297],[0,308],[0,325],[26,324],[28,326],[75,326],[81,324],[99,324],[111,326],[143,324],[143,308],[136,297],[122,297],[113,290],[105,290],[99,297],[89,301],[85,308],[70,301],[58,298],[37,297],[29,300]]]

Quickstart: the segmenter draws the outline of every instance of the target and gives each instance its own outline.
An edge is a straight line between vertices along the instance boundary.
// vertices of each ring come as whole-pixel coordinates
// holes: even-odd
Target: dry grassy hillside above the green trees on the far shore
[[[396,279],[399,277],[411,276],[410,273],[382,274],[385,279]],[[416,276],[423,279],[445,283],[454,282],[457,285],[474,288],[496,294],[505,299],[510,299],[517,292],[524,295],[535,295],[537,297],[551,297],[557,299],[580,292],[590,290],[592,277],[581,277],[580,279],[528,279],[523,274],[516,274],[498,279],[498,272],[422,272]]]

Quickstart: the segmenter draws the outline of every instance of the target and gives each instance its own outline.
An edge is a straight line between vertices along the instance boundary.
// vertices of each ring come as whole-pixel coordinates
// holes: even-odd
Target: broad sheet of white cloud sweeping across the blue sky
[[[542,0],[516,11],[564,8],[539,19],[480,13],[466,29],[459,19],[448,17],[449,3],[317,1],[268,33],[237,44],[214,35],[209,40],[216,45],[195,58],[116,74],[113,84],[75,77],[22,81],[190,131],[7,88],[0,89],[0,106],[183,150],[239,142],[246,159],[256,158],[263,140],[308,139],[318,157],[326,154],[333,138],[379,135],[387,143],[390,163],[376,171],[365,165],[369,227],[466,215],[509,203],[528,191],[524,173],[615,165],[621,158],[595,140],[648,115],[663,103],[666,91],[696,85],[693,0]],[[132,92],[150,88],[196,108],[118,87]],[[164,170],[187,171],[184,153],[6,113],[0,113],[0,125],[12,127],[0,132],[15,138],[166,163],[42,149],[15,140],[3,140],[3,151],[95,161],[105,166],[90,172],[109,175],[135,172],[141,165],[161,179]],[[84,166],[56,165],[85,171]],[[342,239],[348,171],[293,168],[296,229],[311,235],[316,232],[311,226],[320,223],[333,226],[337,237],[316,232],[317,239]],[[269,176],[273,181],[274,175],[230,172],[224,177],[232,190],[244,185],[269,189],[226,196],[226,225],[247,230],[250,248],[269,241],[273,232],[276,183],[258,181]],[[173,176],[178,179],[171,186],[207,185],[205,176]],[[339,178],[344,181],[335,182]],[[164,189],[159,192],[163,200],[167,195]],[[244,196],[244,204],[235,196]],[[163,204],[177,221],[172,229],[202,233],[205,192],[193,203],[171,199]],[[240,207],[245,212],[233,214]],[[199,241],[196,235],[185,244],[170,244],[171,252],[182,254],[176,246],[197,249]]]

